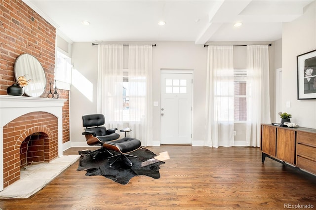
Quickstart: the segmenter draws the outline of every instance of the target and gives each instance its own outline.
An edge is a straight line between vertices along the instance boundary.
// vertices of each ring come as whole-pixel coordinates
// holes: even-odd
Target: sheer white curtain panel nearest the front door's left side
[[[152,128],[152,45],[129,45],[129,128],[147,146]]]

